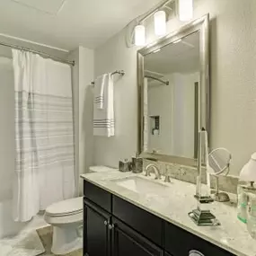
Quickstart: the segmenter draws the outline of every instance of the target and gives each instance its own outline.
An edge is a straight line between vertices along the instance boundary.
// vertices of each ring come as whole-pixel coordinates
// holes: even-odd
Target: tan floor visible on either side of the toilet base
[[[54,256],[52,252],[50,252],[51,244],[52,244],[52,226],[46,226],[37,230],[41,243],[45,248],[45,252],[40,254],[40,256]],[[2,256],[2,255],[1,255]],[[75,252],[67,253],[63,256],[83,256],[83,249],[77,250]]]

